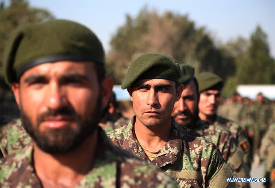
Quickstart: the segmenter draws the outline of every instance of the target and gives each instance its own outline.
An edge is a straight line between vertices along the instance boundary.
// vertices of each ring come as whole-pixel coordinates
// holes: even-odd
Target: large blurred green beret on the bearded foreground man
[[[17,28],[6,44],[5,79],[13,83],[33,66],[65,60],[104,65],[105,53],[97,36],[79,23],[68,20],[30,23]]]

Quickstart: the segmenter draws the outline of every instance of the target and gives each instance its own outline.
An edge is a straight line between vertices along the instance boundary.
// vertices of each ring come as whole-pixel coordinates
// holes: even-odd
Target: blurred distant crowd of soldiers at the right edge
[[[238,122],[248,135],[254,165],[259,165],[259,148],[261,139],[269,126],[275,122],[274,101],[258,93],[255,100],[234,93],[222,100],[218,114]]]

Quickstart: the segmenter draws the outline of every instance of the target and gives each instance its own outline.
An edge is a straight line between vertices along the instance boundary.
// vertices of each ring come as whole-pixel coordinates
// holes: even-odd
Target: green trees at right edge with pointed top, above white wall
[[[238,84],[274,84],[275,61],[270,56],[267,36],[260,26],[251,34],[250,40],[238,38],[229,42],[229,49],[236,59],[236,74],[225,84],[224,93],[230,94]]]

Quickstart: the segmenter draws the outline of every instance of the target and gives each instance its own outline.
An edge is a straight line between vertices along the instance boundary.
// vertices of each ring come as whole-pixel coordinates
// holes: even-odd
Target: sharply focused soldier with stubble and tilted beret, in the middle
[[[121,88],[127,88],[136,115],[107,136],[117,147],[162,168],[180,187],[229,186],[226,177],[233,171],[215,144],[171,117],[183,89],[180,77],[178,62],[168,55],[135,59]]]

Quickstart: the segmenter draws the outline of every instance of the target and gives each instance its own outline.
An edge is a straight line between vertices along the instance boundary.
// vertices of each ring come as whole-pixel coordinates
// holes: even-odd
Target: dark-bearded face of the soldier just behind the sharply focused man
[[[185,85],[181,98],[175,102],[172,116],[179,125],[192,128],[198,115],[198,94],[194,80]]]

